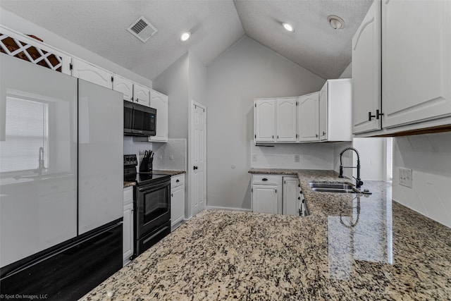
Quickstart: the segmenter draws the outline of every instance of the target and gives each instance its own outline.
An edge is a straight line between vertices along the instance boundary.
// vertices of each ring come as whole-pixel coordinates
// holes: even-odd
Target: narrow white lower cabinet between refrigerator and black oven
[[[133,188],[124,188],[123,216],[123,265],[130,262],[133,254]]]

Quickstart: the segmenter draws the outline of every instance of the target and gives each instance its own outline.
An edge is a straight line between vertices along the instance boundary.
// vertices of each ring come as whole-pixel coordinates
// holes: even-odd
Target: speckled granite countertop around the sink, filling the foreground
[[[252,173],[264,173],[252,170]],[[372,195],[314,192],[310,216],[204,210],[82,300],[450,300],[451,229]]]

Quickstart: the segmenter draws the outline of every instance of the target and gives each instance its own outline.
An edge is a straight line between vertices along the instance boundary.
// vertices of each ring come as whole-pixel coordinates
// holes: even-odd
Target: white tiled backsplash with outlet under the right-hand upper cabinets
[[[394,140],[393,199],[451,227],[451,133]],[[412,169],[412,188],[400,185],[401,167]]]

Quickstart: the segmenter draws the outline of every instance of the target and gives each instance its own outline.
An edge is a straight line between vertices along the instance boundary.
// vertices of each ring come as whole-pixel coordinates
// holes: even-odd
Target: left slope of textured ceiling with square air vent
[[[188,49],[208,64],[245,35],[232,0],[1,0],[0,7],[150,80]],[[158,30],[145,43],[127,31],[140,16]],[[192,37],[180,42],[186,30]]]

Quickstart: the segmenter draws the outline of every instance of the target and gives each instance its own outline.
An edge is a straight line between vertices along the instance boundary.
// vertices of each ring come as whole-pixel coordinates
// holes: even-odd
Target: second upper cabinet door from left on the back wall
[[[296,97],[276,99],[277,141],[296,141]]]

